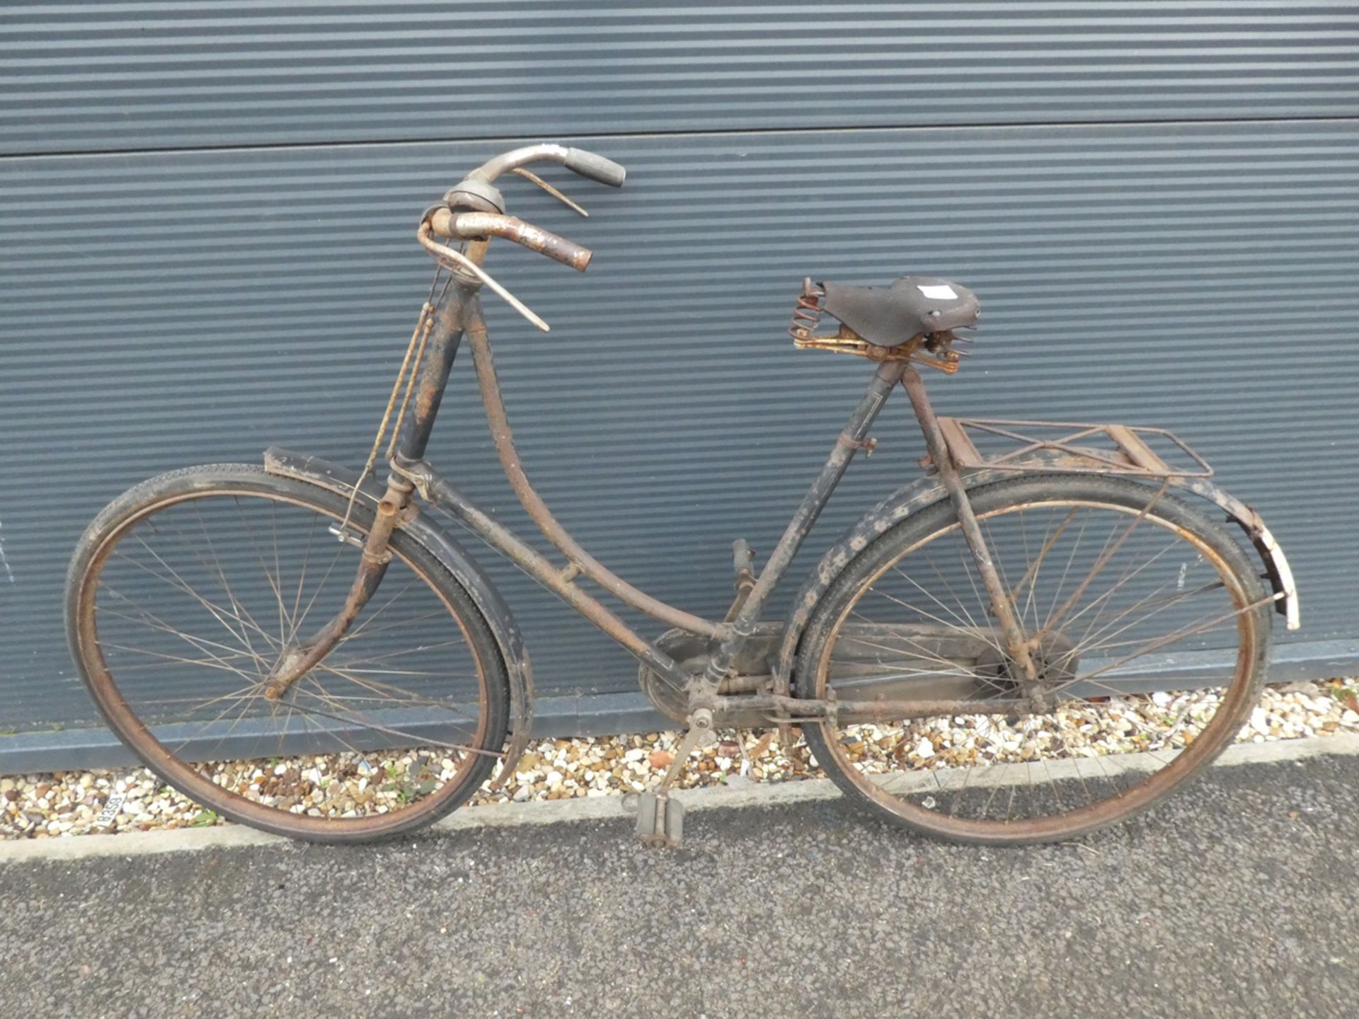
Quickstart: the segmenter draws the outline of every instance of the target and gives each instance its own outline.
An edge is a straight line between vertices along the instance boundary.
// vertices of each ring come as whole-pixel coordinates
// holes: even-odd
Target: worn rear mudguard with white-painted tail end
[[[1015,473],[1011,470],[974,470],[962,476],[964,484],[969,489],[1012,477],[1015,477]],[[1260,519],[1260,514],[1205,478],[1170,478],[1170,485],[1174,489],[1192,492],[1200,499],[1216,504],[1227,514],[1227,519],[1235,520],[1241,526],[1260,554],[1265,567],[1265,575],[1269,577],[1269,583],[1277,595],[1275,609],[1287,620],[1288,629],[1298,629],[1301,625],[1298,591],[1294,587],[1292,571],[1288,568],[1288,560],[1284,558],[1279,542],[1275,541],[1269,529],[1265,527],[1264,520]],[[802,643],[802,632],[807,621],[811,620],[811,613],[826,592],[826,588],[849,565],[849,561],[863,552],[868,546],[868,542],[892,526],[912,514],[920,512],[927,505],[932,505],[947,497],[938,478],[917,478],[909,485],[898,488],[872,507],[848,534],[826,550],[817,568],[811,571],[811,575],[798,590],[798,595],[794,598],[792,607],[788,611],[783,640],[779,643],[779,651],[773,662],[775,689],[788,689],[792,678],[794,659]]]

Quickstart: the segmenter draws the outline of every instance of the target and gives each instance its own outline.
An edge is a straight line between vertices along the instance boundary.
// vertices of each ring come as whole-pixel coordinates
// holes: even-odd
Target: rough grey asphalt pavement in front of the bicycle
[[[10,863],[0,1014],[1354,1016],[1356,802],[1316,757],[1011,851],[826,800]]]

